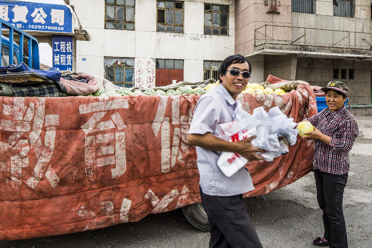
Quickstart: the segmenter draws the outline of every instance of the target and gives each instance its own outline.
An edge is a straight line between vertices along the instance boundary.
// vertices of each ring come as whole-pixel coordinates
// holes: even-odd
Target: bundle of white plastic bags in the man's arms
[[[234,121],[218,125],[216,131],[221,139],[230,142],[257,135],[252,145],[267,151],[257,154],[270,162],[288,152],[289,145],[296,143],[298,134],[294,129],[296,125],[293,118],[284,115],[279,107],[273,107],[268,113],[263,107],[258,107],[250,115],[239,103],[235,108]],[[238,153],[222,152],[217,165],[225,175],[230,177],[247,162],[248,160]]]

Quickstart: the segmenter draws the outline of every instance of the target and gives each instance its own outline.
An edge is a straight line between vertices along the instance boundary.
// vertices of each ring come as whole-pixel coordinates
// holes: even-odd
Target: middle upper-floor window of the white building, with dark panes
[[[158,32],[183,33],[183,2],[157,1],[156,18]]]

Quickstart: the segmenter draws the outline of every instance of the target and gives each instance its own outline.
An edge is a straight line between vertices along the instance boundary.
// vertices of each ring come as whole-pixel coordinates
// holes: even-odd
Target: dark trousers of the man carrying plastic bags
[[[262,248],[242,194],[209,196],[202,190],[200,194],[211,230],[209,248]]]

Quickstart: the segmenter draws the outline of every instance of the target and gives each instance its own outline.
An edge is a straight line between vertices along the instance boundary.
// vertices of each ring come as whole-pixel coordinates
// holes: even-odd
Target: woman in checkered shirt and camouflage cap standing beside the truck
[[[349,151],[359,131],[344,105],[349,93],[346,84],[331,81],[322,90],[328,108],[307,119],[315,131],[303,137],[315,141],[314,176],[319,207],[323,210],[324,236],[315,239],[314,244],[347,248],[342,199],[350,167]]]

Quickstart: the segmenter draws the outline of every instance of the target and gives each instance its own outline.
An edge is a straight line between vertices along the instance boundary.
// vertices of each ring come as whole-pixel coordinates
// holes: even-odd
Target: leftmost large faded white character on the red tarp
[[[17,150],[17,154],[6,162],[0,162],[0,170],[11,175],[6,183],[14,189],[19,189],[22,182],[34,189],[44,175],[55,188],[60,178],[49,161],[54,151],[59,115],[45,115],[45,99],[41,97],[35,103],[27,105],[25,102],[25,97],[15,97],[12,105],[3,104],[3,115],[13,116],[13,119],[1,119],[0,130],[13,133],[0,142],[0,151]],[[29,157],[35,156],[36,162],[33,159],[29,161]],[[22,168],[31,166],[35,166],[31,175],[23,173],[22,176]],[[26,175],[29,177],[25,178]]]

